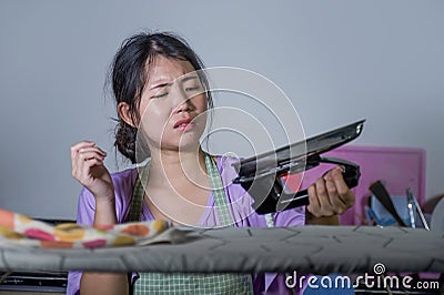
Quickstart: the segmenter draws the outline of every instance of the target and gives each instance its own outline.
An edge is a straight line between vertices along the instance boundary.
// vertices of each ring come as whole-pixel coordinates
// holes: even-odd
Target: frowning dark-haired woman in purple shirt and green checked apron
[[[264,216],[252,212],[251,196],[241,185],[231,183],[236,175],[231,165],[234,160],[210,156],[201,149],[199,139],[205,129],[206,111],[212,108],[205,77],[199,71],[202,69],[186,42],[171,33],[140,33],[123,42],[111,70],[119,115],[115,146],[132,163],[148,154],[151,160],[147,173],[141,173],[145,176],[138,177],[137,169],[111,175],[103,165],[105,152],[93,142],[73,145],[72,175],[84,186],[78,223],[170,220],[190,226],[266,226]],[[137,154],[139,143],[147,149]],[[339,167],[311,185],[309,197],[306,210],[276,213],[275,226],[339,224],[337,214],[354,203]],[[190,294],[291,292],[284,277],[275,274],[191,276],[195,285]],[[161,293],[172,288],[182,294],[189,286],[178,282],[184,277],[71,272],[68,293],[75,294],[79,288],[81,294]]]

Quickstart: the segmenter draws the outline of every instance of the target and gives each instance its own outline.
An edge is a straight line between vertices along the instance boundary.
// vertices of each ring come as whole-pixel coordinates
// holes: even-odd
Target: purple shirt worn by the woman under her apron
[[[253,199],[240,185],[233,184],[232,180],[238,176],[231,165],[236,160],[232,157],[218,157],[218,170],[230,206],[234,226],[238,227],[266,227],[264,215],[256,214],[252,208]],[[138,177],[137,169],[129,169],[113,173],[112,181],[115,190],[115,211],[119,223],[127,222],[130,213],[131,196]],[[79,224],[92,224],[94,220],[95,201],[90,191],[83,189],[79,196],[77,222]],[[143,202],[142,221],[151,221],[153,216]],[[210,194],[206,210],[199,221],[199,226],[209,227],[219,224],[218,214],[214,207],[213,194]],[[305,224],[304,207],[287,210],[274,214],[274,226],[295,226]],[[81,272],[70,272],[68,276],[67,294],[79,294]],[[255,294],[292,294],[285,286],[285,275],[265,274],[253,277]]]

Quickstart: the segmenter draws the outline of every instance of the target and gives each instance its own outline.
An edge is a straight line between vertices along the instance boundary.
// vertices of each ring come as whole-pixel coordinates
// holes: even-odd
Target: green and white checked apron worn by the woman
[[[205,166],[210,176],[219,225],[233,225],[225,191],[215,162],[205,154]],[[148,181],[149,165],[143,169],[135,183],[130,221],[139,221],[144,195],[143,183]],[[194,273],[140,273],[133,285],[134,295],[144,294],[253,294],[251,275],[244,274],[194,274]]]

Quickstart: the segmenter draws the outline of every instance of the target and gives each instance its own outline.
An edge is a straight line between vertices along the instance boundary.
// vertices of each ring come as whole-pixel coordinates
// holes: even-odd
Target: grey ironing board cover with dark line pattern
[[[169,243],[94,250],[0,244],[2,271],[444,272],[444,233],[374,226],[167,231]]]

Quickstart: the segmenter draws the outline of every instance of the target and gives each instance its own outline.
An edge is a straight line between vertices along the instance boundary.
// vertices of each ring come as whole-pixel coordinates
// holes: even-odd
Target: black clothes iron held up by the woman
[[[355,187],[361,176],[357,164],[343,159],[323,157],[321,154],[356,139],[363,123],[364,120],[276,151],[241,160],[233,164],[239,173],[233,183],[241,184],[250,193],[254,199],[253,208],[259,214],[307,205],[307,190],[286,193],[281,180],[284,175],[300,173],[321,163],[341,165],[345,183],[349,187]]]

